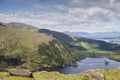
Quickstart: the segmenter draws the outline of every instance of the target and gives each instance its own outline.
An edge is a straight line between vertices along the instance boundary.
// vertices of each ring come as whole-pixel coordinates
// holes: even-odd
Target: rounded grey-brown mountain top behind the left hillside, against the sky
[[[0,23],[1,26],[6,26],[8,28],[14,28],[14,29],[18,29],[18,30],[29,30],[29,31],[37,31],[38,28],[31,26],[31,25],[27,25],[27,24],[23,24],[23,23],[17,23],[17,22],[11,22],[11,23]]]

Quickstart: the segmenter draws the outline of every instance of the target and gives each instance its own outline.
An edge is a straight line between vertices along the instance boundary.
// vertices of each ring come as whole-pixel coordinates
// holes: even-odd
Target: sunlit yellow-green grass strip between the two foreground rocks
[[[36,72],[33,74],[35,80],[93,80],[83,75],[65,75],[58,72]]]

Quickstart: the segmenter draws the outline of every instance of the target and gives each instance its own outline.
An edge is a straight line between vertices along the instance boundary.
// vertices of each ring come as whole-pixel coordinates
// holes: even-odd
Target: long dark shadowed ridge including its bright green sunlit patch
[[[71,37],[64,33],[50,31],[47,29],[40,29],[40,33],[45,33],[47,35],[52,35],[54,38],[60,40],[61,42],[68,45],[70,48],[78,50],[104,50],[104,51],[119,51],[120,45],[106,43],[104,41],[87,39],[83,37]]]

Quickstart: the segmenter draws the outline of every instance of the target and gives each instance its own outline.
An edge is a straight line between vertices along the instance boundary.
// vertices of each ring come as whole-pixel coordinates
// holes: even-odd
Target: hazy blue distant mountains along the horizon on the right
[[[87,32],[69,32],[65,31],[65,34],[73,35],[77,37],[86,37],[91,39],[113,39],[120,38],[120,32],[95,32],[95,33],[87,33]]]

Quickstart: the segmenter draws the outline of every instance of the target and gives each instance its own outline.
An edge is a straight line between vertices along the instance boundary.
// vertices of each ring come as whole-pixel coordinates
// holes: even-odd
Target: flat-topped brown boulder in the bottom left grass
[[[32,72],[28,69],[11,69],[9,70],[11,75],[15,76],[31,76]]]

